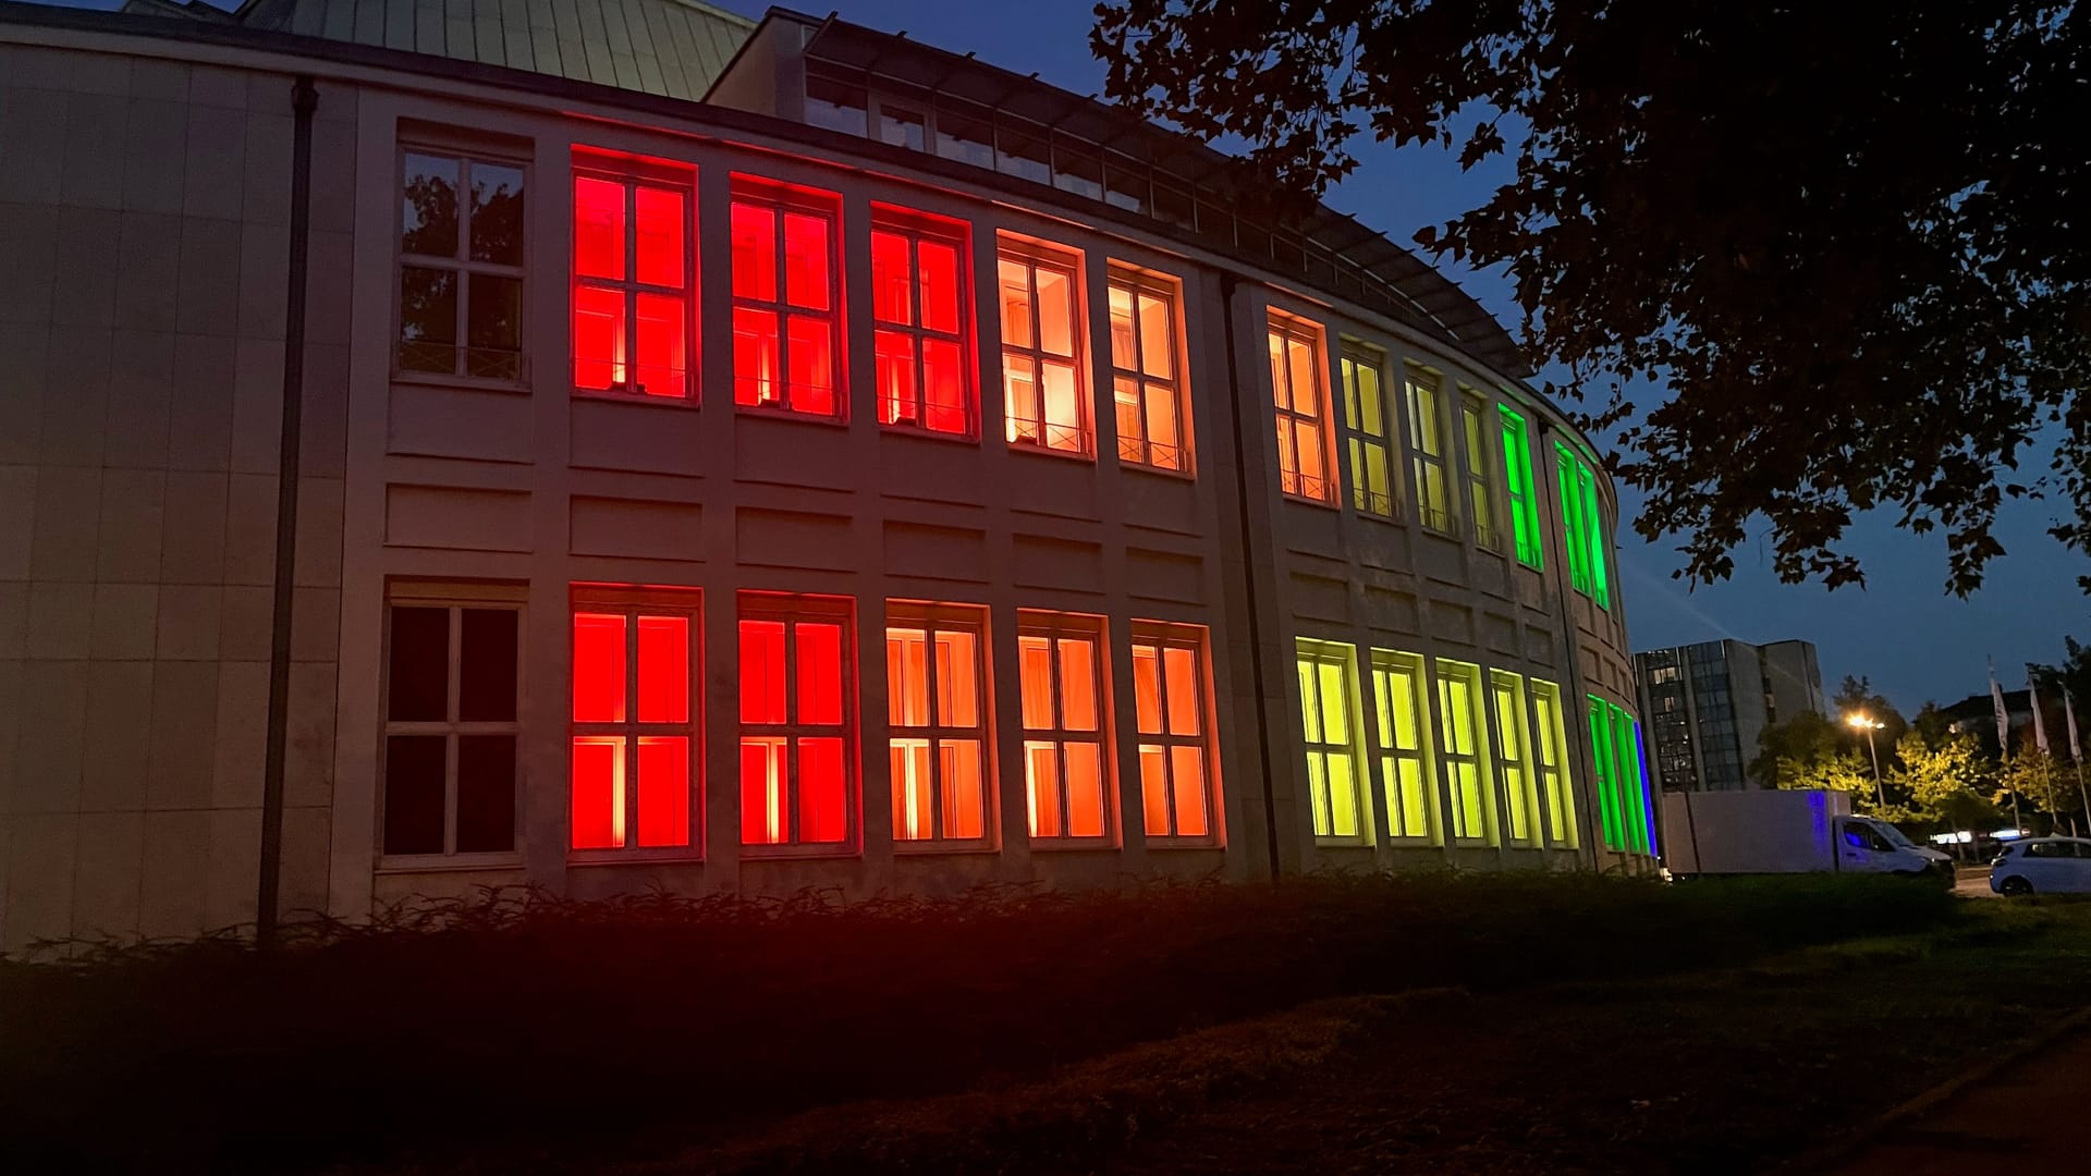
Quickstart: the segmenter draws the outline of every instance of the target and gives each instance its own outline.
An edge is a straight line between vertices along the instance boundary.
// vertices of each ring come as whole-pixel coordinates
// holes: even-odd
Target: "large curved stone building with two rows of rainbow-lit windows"
[[[8,946],[1648,860],[1589,442],[1198,144],[690,0],[10,8],[0,86]]]

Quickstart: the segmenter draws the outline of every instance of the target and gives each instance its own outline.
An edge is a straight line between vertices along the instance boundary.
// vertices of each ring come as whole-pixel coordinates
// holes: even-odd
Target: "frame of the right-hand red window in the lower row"
[[[749,722],[742,716],[740,691],[746,682],[740,682],[740,668],[744,665],[744,651],[740,649],[740,626],[744,621],[782,621],[784,624],[784,722],[763,724]],[[799,722],[799,626],[801,624],[836,624],[841,626],[841,674],[843,674],[843,709],[841,724],[809,724]],[[734,812],[734,839],[740,845],[742,858],[853,858],[864,852],[864,772],[859,757],[859,739],[864,732],[864,716],[859,711],[861,691],[857,684],[857,611],[853,596],[820,596],[820,594],[799,594],[799,592],[763,592],[763,590],[740,590],[734,594],[734,674],[736,674],[736,707],[734,707],[734,757],[736,757],[736,812]],[[801,808],[803,808],[803,787],[799,783],[799,745],[805,739],[832,739],[843,741],[843,837],[838,841],[803,841],[801,839]],[[749,841],[744,835],[746,814],[740,808],[746,804],[746,781],[740,776],[740,764],[744,762],[742,747],[749,739],[784,739],[784,833],[782,841]]]

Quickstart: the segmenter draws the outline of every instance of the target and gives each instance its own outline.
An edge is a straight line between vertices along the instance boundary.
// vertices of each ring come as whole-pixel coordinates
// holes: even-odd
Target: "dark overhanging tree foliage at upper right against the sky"
[[[1514,176],[1416,241],[1514,282],[1526,349],[1646,494],[1679,575],[1769,523],[1863,582],[1855,513],[1943,529],[1947,586],[2051,496],[2091,550],[2091,8],[2037,0],[1104,0],[1106,90],[1319,193],[1368,140]],[[1667,385],[1656,404],[1633,381]],[[2060,423],[2060,429],[2037,431]],[[2060,435],[2041,473],[2037,444]],[[2035,467],[2020,475],[2020,462]]]

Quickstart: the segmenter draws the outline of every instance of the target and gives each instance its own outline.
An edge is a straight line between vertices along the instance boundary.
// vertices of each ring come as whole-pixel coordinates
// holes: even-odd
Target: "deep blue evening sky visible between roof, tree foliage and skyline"
[[[115,6],[109,0],[84,2]],[[220,2],[232,6],[230,0]],[[753,0],[726,0],[721,6],[751,17],[763,13],[763,4]],[[807,10],[813,8],[824,6]],[[1016,73],[1037,71],[1066,90],[1102,90],[1104,67],[1087,46],[1092,0],[849,0],[841,13],[939,48],[972,50]],[[1416,228],[1480,203],[1508,174],[1501,163],[1462,174],[1451,153],[1437,149],[1365,146],[1361,159],[1361,167],[1328,201],[1397,243],[1409,243]],[[1506,324],[1516,324],[1501,274],[1443,268]],[[2045,454],[2035,460],[2045,462]],[[1926,699],[1949,703],[1986,691],[1986,657],[1997,659],[2007,688],[2022,684],[2020,663],[2060,661],[2064,634],[2091,638],[2091,609],[2076,590],[2076,575],[2091,573],[2091,563],[2064,552],[2043,534],[2051,506],[2016,506],[1997,529],[2009,555],[1991,565],[1989,586],[1968,601],[1943,590],[1945,540],[1899,532],[1892,517],[1865,519],[1855,527],[1851,550],[1865,561],[1869,586],[1838,592],[1779,584],[1769,550],[1759,548],[1736,552],[1733,580],[1687,592],[1671,580],[1681,565],[1671,544],[1646,544],[1623,529],[1618,563],[1633,647],[1719,636],[1752,642],[1805,638],[1821,649],[1830,691],[1844,674],[1863,674],[1905,711],[1915,711]],[[1629,496],[1623,508],[1631,517],[1635,500]]]

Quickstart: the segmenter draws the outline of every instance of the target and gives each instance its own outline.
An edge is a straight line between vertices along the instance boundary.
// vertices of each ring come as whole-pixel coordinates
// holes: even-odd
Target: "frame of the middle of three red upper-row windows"
[[[769,299],[757,299],[742,295],[734,282],[734,211],[740,205],[765,207],[772,213],[772,264],[776,266],[776,291]],[[784,216],[815,216],[828,222],[828,310],[801,308],[790,301],[790,247],[788,232],[784,230]],[[849,423],[849,337],[845,335],[843,318],[843,197],[824,188],[807,188],[801,184],[790,184],[784,180],[769,180],[765,176],[751,176],[744,172],[734,172],[728,182],[726,201],[726,232],[728,232],[728,310],[732,331],[732,358],[734,358],[734,410],[755,412],[763,416],[782,416],[788,421],[818,421],[828,425]],[[776,402],[746,404],[740,400],[740,312],[769,314],[778,324],[778,366],[772,381],[782,391]],[[792,406],[792,379],[790,379],[790,322],[792,318],[815,318],[828,326],[828,395],[834,400],[830,412],[811,412]]]

